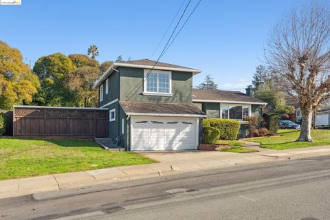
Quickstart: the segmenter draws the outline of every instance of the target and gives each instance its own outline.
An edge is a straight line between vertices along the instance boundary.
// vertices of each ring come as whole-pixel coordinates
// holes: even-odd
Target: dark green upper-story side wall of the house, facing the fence
[[[118,72],[113,72],[109,77],[109,88],[108,88],[108,94],[105,92],[105,80],[103,81],[103,100],[102,102],[99,102],[98,106],[101,107],[104,104],[107,104],[116,98],[119,98],[119,74]],[[100,87],[99,87],[100,89]],[[100,97],[99,99],[100,100]]]

